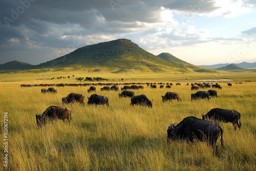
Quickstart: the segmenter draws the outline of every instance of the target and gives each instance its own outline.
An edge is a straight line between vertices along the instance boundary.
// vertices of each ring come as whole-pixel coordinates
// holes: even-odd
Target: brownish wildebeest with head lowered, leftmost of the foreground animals
[[[66,106],[50,106],[46,109],[42,115],[36,114],[36,124],[37,126],[45,125],[48,121],[53,121],[57,119],[71,121],[71,109],[67,108]]]

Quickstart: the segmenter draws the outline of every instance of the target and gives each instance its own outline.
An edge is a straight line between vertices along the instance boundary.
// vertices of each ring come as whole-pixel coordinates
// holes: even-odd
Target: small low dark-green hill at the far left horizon
[[[3,65],[0,65],[0,70],[22,70],[31,68],[33,68],[33,65],[30,65],[29,63],[25,62],[20,62],[17,60],[6,62]]]

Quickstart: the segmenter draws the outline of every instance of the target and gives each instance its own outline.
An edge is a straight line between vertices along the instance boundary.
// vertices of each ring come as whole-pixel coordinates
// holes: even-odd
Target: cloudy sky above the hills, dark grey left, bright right
[[[0,0],[0,64],[127,38],[194,65],[256,62],[256,0]]]

